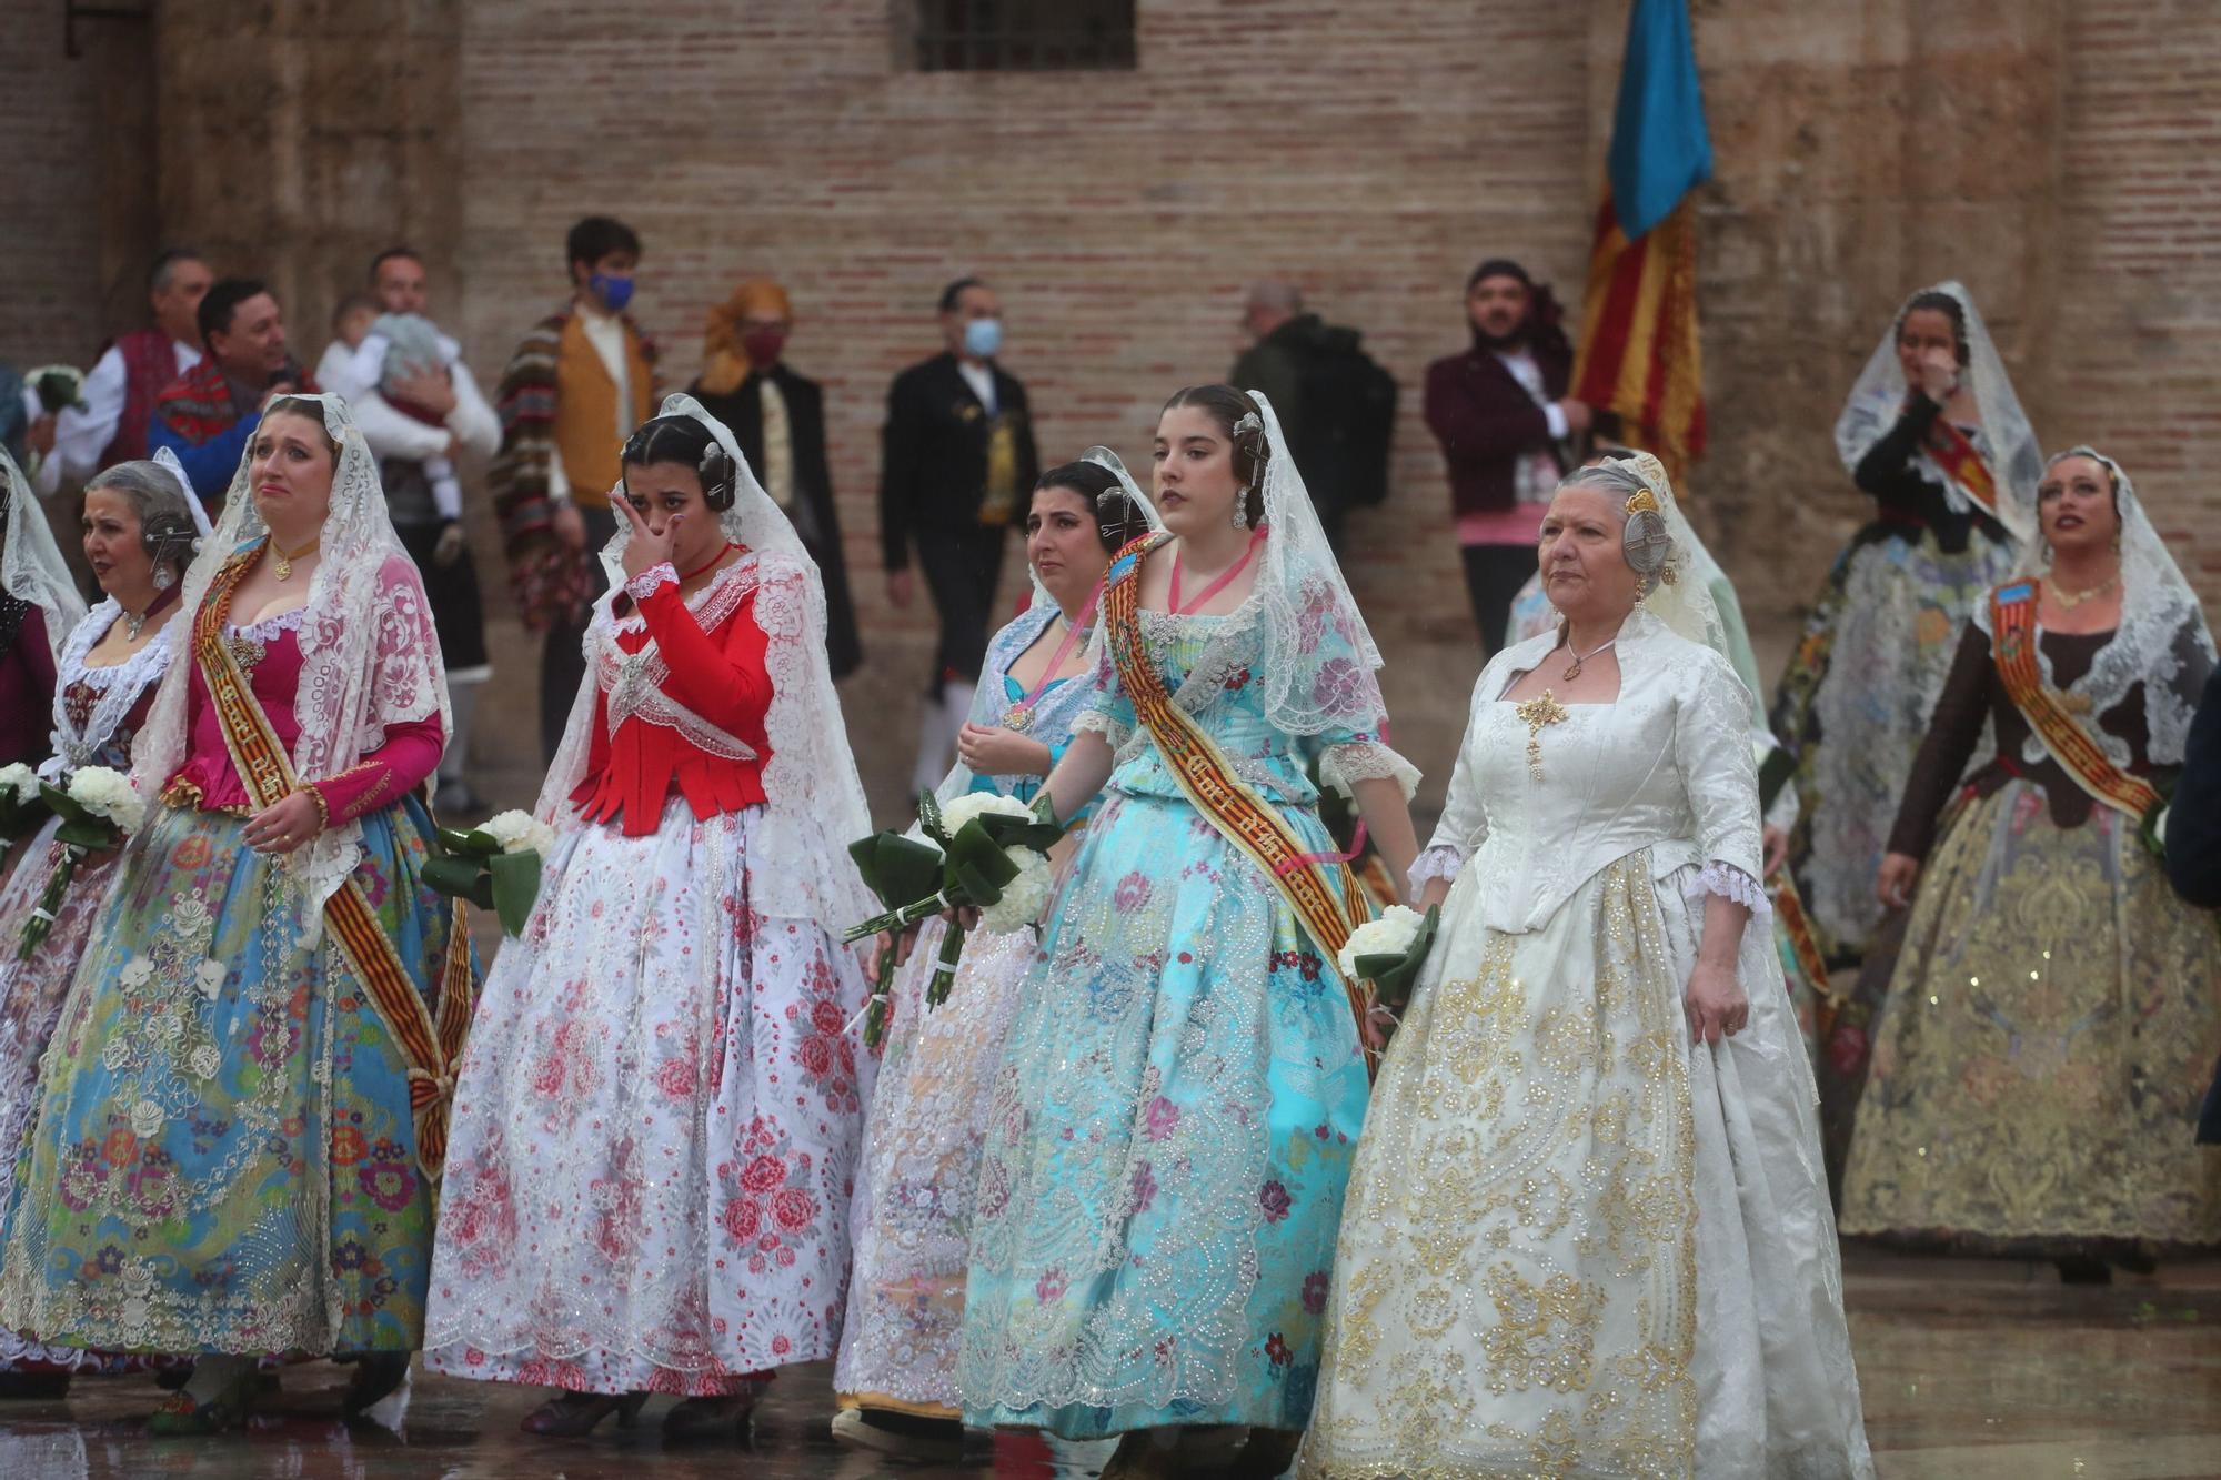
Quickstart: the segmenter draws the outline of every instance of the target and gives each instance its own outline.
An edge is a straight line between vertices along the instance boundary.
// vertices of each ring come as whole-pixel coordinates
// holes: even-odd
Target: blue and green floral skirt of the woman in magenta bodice
[[[0,1322],[109,1351],[411,1351],[431,1189],[409,1078],[287,860],[155,807],[122,853],[38,1082]],[[451,904],[413,800],[362,818],[355,880],[426,996]]]

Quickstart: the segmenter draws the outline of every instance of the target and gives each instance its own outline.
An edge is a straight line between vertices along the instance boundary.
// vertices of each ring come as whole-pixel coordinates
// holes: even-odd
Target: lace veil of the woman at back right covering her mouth
[[[2006,531],[2014,540],[2028,544],[2037,538],[2037,482],[2043,478],[2043,453],[2037,447],[2037,433],[2028,427],[2028,413],[2021,411],[2019,396],[2012,393],[2012,378],[2006,376],[2006,362],[1999,358],[1997,342],[1974,309],[1972,293],[1957,280],[1937,282],[1921,289],[1921,293],[1948,293],[1959,302],[1959,311],[1966,318],[1968,364],[1963,373],[1974,396],[1974,407],[1981,411],[1977,447],[1981,447],[1983,458],[1990,462],[1990,473],[1997,478],[1999,522],[2006,524]],[[1906,309],[1910,307],[1912,298],[1897,309],[1890,329],[1881,336],[1875,353],[1868,356],[1866,369],[1859,371],[1857,384],[1850,387],[1850,400],[1843,402],[1843,413],[1835,422],[1835,451],[1843,458],[1846,471],[1859,467],[1866,449],[1879,442],[1903,411],[1908,387],[1906,371],[1897,362],[1897,327],[1906,320]],[[1952,511],[1974,511],[1966,491],[1937,467],[1926,449],[1912,460],[1912,467],[1919,469],[1921,478],[1943,489],[1943,500]]]

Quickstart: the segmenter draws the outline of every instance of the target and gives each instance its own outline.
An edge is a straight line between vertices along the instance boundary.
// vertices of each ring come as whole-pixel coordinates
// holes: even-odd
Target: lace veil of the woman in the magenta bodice
[[[293,716],[293,773],[304,782],[349,771],[384,744],[386,731],[438,716],[442,740],[455,724],[446,709],[446,669],[440,638],[431,629],[431,607],[415,562],[386,518],[386,493],[378,482],[378,458],[338,396],[291,396],[324,418],[324,436],[338,447],[331,471],[331,511],[318,538],[320,558],[309,578],[309,604],[300,624],[300,687]],[[224,496],[224,518],[184,573],[182,613],[200,611],[218,569],[244,547],[269,536],[253,500],[253,444],[240,453]],[[180,629],[191,642],[191,629]],[[131,784],[153,798],[184,764],[187,691],[198,658],[173,662],[155,689],[147,724],[131,742]],[[362,860],[362,824],[335,822],[315,842],[291,856],[293,876],[309,891],[309,931],[322,929],[324,900],[346,882]]]

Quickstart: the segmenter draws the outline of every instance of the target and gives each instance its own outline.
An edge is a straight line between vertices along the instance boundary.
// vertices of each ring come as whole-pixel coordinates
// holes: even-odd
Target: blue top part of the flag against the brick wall
[[[1712,178],[1688,0],[1635,0],[1628,13],[1628,56],[1606,169],[1612,213],[1630,242],[1666,220],[1692,184]]]

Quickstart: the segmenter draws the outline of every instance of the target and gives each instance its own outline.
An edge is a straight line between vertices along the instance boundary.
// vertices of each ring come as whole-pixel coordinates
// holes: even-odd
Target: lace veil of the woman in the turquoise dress
[[[1357,611],[1326,529],[1310,507],[1304,476],[1295,469],[1279,416],[1264,391],[1246,391],[1264,420],[1264,518],[1270,536],[1257,571],[1262,607],[1264,707],[1286,736],[1317,736],[1328,729],[1375,731],[1388,704],[1381,700],[1381,651]],[[1326,629],[1333,627],[1357,653],[1319,662]]]

